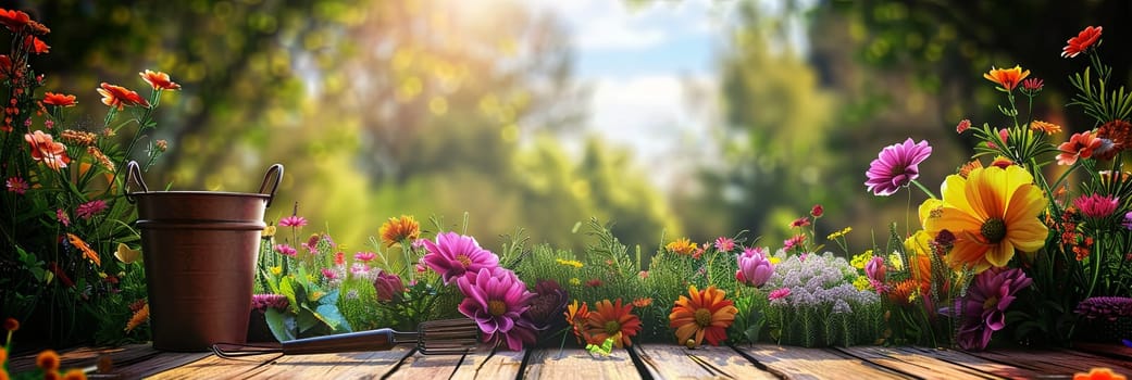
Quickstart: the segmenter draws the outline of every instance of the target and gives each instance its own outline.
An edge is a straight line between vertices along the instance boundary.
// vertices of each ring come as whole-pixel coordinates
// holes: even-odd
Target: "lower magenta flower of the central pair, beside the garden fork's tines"
[[[483,342],[507,343],[512,351],[523,349],[524,343],[534,343],[534,325],[523,318],[535,294],[526,291],[515,273],[480,268],[474,275],[456,278],[456,286],[466,296],[457,308],[475,320]]]

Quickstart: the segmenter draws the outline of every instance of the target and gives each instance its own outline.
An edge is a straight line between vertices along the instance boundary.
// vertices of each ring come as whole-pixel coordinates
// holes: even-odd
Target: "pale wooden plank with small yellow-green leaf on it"
[[[532,348],[525,379],[641,379],[628,351],[614,349],[609,356],[591,355],[581,348]]]

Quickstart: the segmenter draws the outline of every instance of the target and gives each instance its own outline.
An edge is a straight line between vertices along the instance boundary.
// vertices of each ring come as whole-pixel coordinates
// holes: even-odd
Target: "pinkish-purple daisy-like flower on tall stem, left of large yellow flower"
[[[891,196],[919,176],[919,163],[931,155],[932,146],[927,145],[927,140],[912,142],[909,138],[903,144],[886,146],[868,164],[865,185],[874,195]]]

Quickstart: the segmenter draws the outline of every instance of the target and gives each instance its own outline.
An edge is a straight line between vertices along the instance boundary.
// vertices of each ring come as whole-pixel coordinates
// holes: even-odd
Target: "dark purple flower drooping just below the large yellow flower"
[[[986,348],[990,334],[1006,327],[1006,308],[1014,302],[1014,293],[1032,282],[1018,268],[990,268],[975,276],[967,296],[957,303],[962,312],[957,337],[959,346]]]

